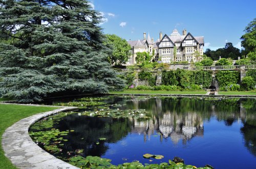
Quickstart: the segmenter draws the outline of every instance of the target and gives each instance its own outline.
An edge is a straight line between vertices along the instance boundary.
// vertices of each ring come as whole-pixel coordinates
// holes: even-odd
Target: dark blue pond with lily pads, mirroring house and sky
[[[31,137],[65,161],[80,155],[108,158],[115,165],[151,164],[178,156],[198,167],[256,167],[256,99],[105,96],[82,101],[78,112],[37,122]],[[146,153],[163,158],[143,158]]]

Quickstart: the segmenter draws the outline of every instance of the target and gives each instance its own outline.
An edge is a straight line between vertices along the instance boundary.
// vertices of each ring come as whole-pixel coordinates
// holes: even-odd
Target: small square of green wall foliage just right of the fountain
[[[217,80],[219,81],[219,85],[221,87],[228,86],[231,84],[238,84],[240,78],[239,71],[229,71],[223,70],[218,71],[216,74]]]

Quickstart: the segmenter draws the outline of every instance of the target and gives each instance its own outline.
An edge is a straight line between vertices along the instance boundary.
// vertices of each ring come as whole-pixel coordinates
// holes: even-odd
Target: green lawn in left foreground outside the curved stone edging
[[[17,121],[38,114],[39,112],[53,109],[57,109],[57,107],[0,104],[0,143],[2,143],[2,135],[5,130]],[[11,161],[5,157],[2,144],[0,144],[0,168],[16,168]]]

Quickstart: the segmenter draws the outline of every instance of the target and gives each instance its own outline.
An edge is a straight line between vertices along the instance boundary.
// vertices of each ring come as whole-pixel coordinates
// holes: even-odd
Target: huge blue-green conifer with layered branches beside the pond
[[[107,93],[123,81],[107,62],[86,0],[0,0],[0,93],[19,102],[68,93]]]

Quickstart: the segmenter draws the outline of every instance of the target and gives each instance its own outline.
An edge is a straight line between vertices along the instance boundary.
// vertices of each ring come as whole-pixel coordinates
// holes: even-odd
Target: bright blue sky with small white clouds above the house
[[[143,39],[143,32],[157,40],[159,32],[204,36],[205,47],[212,50],[226,42],[241,48],[245,26],[256,17],[256,0],[92,0],[94,9],[105,17],[105,34],[126,40]]]

